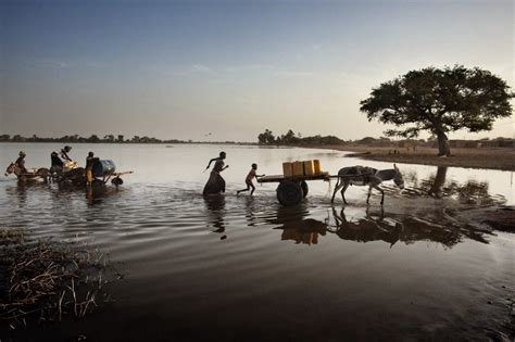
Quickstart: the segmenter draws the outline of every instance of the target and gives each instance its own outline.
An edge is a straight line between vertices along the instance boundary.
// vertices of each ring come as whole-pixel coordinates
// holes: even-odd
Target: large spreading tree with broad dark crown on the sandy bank
[[[488,71],[426,67],[373,89],[360,110],[368,121],[397,125],[388,136],[414,138],[429,130],[438,138],[438,155],[450,155],[449,132],[490,130],[495,118],[512,115],[513,97],[506,83]]]

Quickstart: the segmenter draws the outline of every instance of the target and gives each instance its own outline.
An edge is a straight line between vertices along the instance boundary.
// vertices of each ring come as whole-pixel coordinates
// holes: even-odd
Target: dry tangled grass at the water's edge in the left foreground
[[[11,329],[27,325],[28,318],[81,318],[109,300],[106,270],[116,271],[104,254],[26,238],[25,229],[0,228],[0,319]]]

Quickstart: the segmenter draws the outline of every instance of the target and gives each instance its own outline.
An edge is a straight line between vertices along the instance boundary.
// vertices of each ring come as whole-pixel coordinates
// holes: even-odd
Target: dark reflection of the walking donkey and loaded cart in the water
[[[280,215],[274,221],[281,224],[281,240],[293,240],[296,243],[316,244],[318,235],[325,236],[331,232],[343,240],[356,242],[385,241],[390,246],[398,241],[405,244],[415,241],[432,241],[452,248],[462,242],[466,237],[482,243],[488,243],[483,238],[485,231],[467,226],[459,226],[447,220],[429,220],[410,215],[389,214],[382,210],[378,212],[365,211],[364,216],[357,219],[348,219],[344,208],[337,211],[332,207],[332,215],[325,221],[313,218],[304,218],[306,213],[298,217],[288,216],[287,220],[280,219]]]

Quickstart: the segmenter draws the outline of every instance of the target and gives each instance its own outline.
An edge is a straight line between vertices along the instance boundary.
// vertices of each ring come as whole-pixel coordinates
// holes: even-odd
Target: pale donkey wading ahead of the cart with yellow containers
[[[366,198],[366,204],[370,199],[372,188],[377,189],[381,192],[381,205],[385,203],[385,191],[382,191],[379,186],[385,180],[391,180],[401,189],[404,189],[404,179],[402,179],[402,174],[397,168],[397,165],[393,164],[393,168],[388,169],[376,169],[367,166],[350,166],[343,167],[338,172],[338,181],[335,187],[335,192],[332,193],[331,203],[335,202],[336,192],[341,189],[341,198],[343,203],[348,204],[346,201],[346,190],[349,186],[368,186],[368,197]],[[343,189],[342,189],[343,188]]]

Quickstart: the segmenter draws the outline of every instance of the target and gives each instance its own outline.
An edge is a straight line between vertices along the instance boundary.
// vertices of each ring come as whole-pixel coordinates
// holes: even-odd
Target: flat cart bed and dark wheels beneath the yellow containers
[[[260,177],[258,182],[278,182],[277,200],[279,203],[282,205],[296,205],[307,195],[307,180],[329,180],[329,173],[291,177],[277,175]]]

